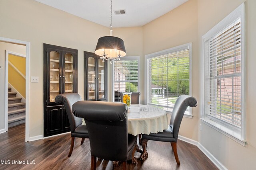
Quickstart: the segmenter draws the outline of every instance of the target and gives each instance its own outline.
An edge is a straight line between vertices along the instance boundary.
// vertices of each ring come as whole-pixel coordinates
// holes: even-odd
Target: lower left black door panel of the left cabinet
[[[55,133],[62,130],[62,106],[46,107],[47,133]]]

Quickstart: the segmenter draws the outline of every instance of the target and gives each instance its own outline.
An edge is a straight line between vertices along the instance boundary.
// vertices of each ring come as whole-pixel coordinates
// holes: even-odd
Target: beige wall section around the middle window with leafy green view
[[[143,27],[144,55],[192,42],[192,96],[198,96],[198,2],[188,1]],[[143,59],[143,62],[145,59]],[[199,107],[192,109],[193,118],[182,120],[180,135],[198,140]],[[189,129],[189,130],[188,130]]]

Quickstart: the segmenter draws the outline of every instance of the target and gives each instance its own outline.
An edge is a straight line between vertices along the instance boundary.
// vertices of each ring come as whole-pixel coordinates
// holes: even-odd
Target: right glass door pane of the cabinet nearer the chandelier
[[[105,98],[104,75],[104,63],[102,62],[102,59],[98,59],[98,99]]]

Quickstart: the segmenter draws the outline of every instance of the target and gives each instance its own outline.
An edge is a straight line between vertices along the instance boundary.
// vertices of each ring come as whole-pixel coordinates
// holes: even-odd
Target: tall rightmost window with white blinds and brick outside
[[[242,6],[203,36],[204,119],[244,140],[244,25]],[[221,126],[219,126],[221,125]],[[224,127],[223,127],[223,126]],[[223,128],[222,128],[223,127]]]

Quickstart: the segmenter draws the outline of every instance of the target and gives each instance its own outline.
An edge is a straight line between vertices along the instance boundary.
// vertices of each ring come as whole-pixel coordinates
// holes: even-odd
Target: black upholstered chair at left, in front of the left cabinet
[[[85,138],[89,138],[87,127],[85,125],[82,125],[82,118],[76,117],[72,113],[72,105],[75,102],[78,102],[80,100],[82,100],[81,96],[77,93],[59,94],[55,98],[56,104],[64,105],[68,115],[69,124],[70,124],[71,146],[70,146],[70,151],[68,153],[68,157],[70,157],[73,152],[75,137],[82,138],[81,145],[84,143]]]

